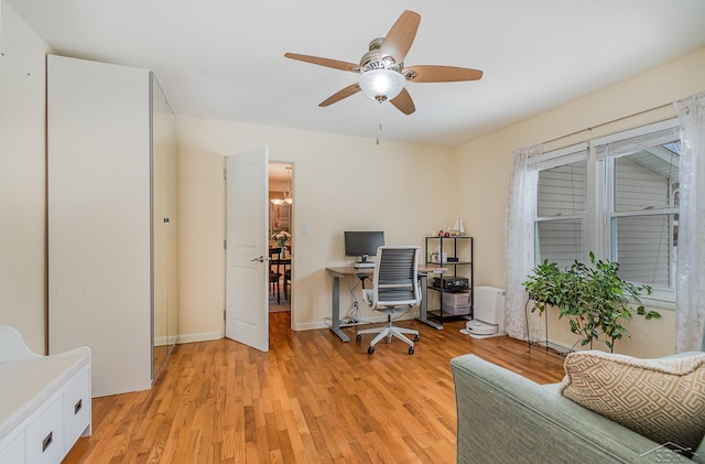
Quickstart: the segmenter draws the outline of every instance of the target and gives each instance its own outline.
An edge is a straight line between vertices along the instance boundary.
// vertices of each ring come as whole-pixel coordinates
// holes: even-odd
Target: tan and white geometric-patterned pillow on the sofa
[[[705,435],[705,353],[638,359],[597,350],[571,353],[558,392],[664,444],[695,450]]]

